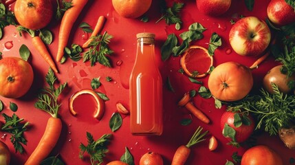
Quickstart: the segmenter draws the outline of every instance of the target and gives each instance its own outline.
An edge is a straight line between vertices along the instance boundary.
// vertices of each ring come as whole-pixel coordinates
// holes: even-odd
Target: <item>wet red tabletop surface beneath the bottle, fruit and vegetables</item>
[[[235,148],[226,144],[228,140],[221,134],[219,126],[220,116],[223,111],[225,111],[225,107],[223,106],[222,109],[215,109],[213,98],[204,99],[200,96],[193,98],[194,104],[204,111],[212,121],[210,124],[204,124],[194,117],[190,125],[182,126],[180,124],[182,119],[191,117],[184,108],[177,107],[177,102],[182,98],[184,93],[192,89],[197,90],[200,85],[191,83],[186,75],[179,74],[179,57],[169,58],[168,61],[162,62],[160,60],[160,47],[166,40],[167,34],[175,33],[178,35],[187,31],[191,23],[198,22],[204,25],[207,30],[204,32],[204,39],[197,41],[194,43],[195,45],[208,47],[212,32],[217,32],[222,38],[222,46],[215,52],[215,66],[226,61],[236,61],[243,65],[250,66],[257,57],[243,57],[235,54],[233,51],[230,54],[226,54],[226,50],[230,49],[228,42],[228,33],[232,26],[230,20],[239,19],[239,15],[241,14],[245,17],[256,16],[260,19],[266,19],[266,7],[269,1],[270,0],[255,1],[253,11],[249,12],[243,1],[232,0],[230,10],[226,12],[226,14],[220,17],[207,17],[197,10],[195,1],[186,0],[183,1],[185,7],[181,13],[184,23],[182,29],[177,31],[174,25],[167,26],[164,21],[155,24],[155,21],[161,17],[160,4],[158,1],[153,1],[150,10],[146,12],[147,17],[149,17],[149,22],[144,23],[140,21],[140,19],[124,19],[120,17],[113,9],[111,1],[90,0],[72,29],[72,37],[69,39],[68,45],[72,43],[83,45],[85,42],[83,34],[85,33],[78,28],[78,25],[84,21],[94,27],[98,17],[104,15],[107,18],[107,22],[102,31],[107,31],[109,34],[113,35],[113,39],[111,39],[111,43],[109,44],[109,47],[115,52],[110,57],[113,67],[107,68],[99,64],[91,67],[88,62],[73,62],[70,60],[63,65],[58,64],[58,69],[61,71],[61,73],[57,75],[58,79],[61,83],[67,82],[69,88],[63,93],[63,96],[61,96],[62,106],[59,115],[63,120],[63,131],[58,140],[58,144],[54,148],[54,151],[52,151],[52,155],[60,154],[66,164],[90,164],[88,160],[81,160],[78,157],[80,143],[87,144],[86,131],[88,131],[94,135],[95,139],[98,139],[105,133],[113,134],[113,139],[109,144],[109,153],[107,153],[107,157],[105,157],[105,163],[120,159],[124,154],[124,148],[128,147],[134,157],[135,164],[138,164],[140,157],[149,151],[160,153],[164,158],[164,164],[171,164],[176,148],[188,142],[191,135],[195,132],[195,129],[197,129],[197,126],[203,126],[204,130],[208,130],[210,133],[205,142],[192,147],[192,152],[186,164],[225,164],[227,159],[232,160],[231,155],[235,151],[238,151],[239,155],[242,155],[246,147]],[[58,45],[57,36],[59,22],[52,21],[47,29],[50,29],[54,33],[54,42],[48,45],[48,49],[55,59]],[[164,133],[160,137],[140,137],[131,135],[129,131],[129,116],[124,117],[121,128],[115,133],[111,132],[111,129],[109,129],[109,119],[113,112],[116,111],[116,103],[121,102],[129,109],[129,75],[135,61],[135,34],[138,32],[153,32],[156,34],[155,51],[163,80],[165,82],[166,78],[169,77],[173,89],[175,89],[173,93],[164,87]],[[6,50],[4,47],[4,43],[7,41],[12,41],[13,43],[11,50]],[[19,47],[22,44],[27,45],[32,53],[31,64],[35,76],[34,84],[30,91],[22,98],[8,99],[0,97],[6,105],[6,109],[3,110],[4,113],[12,114],[12,111],[8,109],[9,102],[15,102],[19,106],[19,110],[16,112],[17,115],[30,122],[30,129],[25,132],[28,144],[24,146],[25,153],[23,155],[14,153],[9,135],[1,139],[3,142],[6,142],[10,148],[12,153],[11,164],[23,164],[25,162],[41,139],[47,124],[47,119],[50,117],[47,113],[34,108],[36,93],[38,89],[45,85],[44,78],[48,67],[45,61],[43,61],[43,58],[34,50],[30,41],[30,36],[26,34],[19,36],[14,26],[5,28],[3,39],[0,41],[0,51],[3,53],[3,57],[19,56]],[[122,61],[122,65],[117,66],[117,61]],[[255,81],[253,90],[259,90],[261,87],[261,78],[274,65],[276,65],[276,63],[274,63],[273,58],[269,57],[258,69],[254,69],[252,72]],[[85,100],[85,104],[83,104],[83,107],[85,107],[84,109],[76,110],[78,115],[71,115],[67,107],[70,96],[80,89],[90,89],[91,79],[99,76],[102,86],[99,87],[97,91],[106,94],[109,98],[109,100],[105,102],[106,108],[102,120],[98,121],[92,118],[93,107],[87,107],[88,99]],[[105,77],[107,76],[113,78],[113,81],[105,81]],[[208,87],[208,76],[198,80],[201,80],[204,85]],[[0,118],[0,120],[3,121],[3,118]],[[0,135],[2,136],[3,133],[0,133]],[[219,141],[219,146],[216,151],[208,150],[208,138],[210,135],[215,135]],[[295,152],[286,148],[283,142],[276,136],[270,137],[266,133],[263,133],[257,137],[257,143],[267,144],[273,148],[281,155],[285,164],[289,164],[289,158],[295,155]]]

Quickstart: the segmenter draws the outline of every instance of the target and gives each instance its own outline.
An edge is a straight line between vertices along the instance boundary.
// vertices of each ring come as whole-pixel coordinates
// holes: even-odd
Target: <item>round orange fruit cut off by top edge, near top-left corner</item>
[[[17,0],[14,4],[15,18],[25,28],[39,30],[48,25],[53,16],[52,1]]]

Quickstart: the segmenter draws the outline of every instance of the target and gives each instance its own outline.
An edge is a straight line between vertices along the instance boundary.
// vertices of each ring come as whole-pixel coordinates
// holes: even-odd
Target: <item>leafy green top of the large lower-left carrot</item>
[[[50,113],[53,118],[58,118],[58,109],[61,107],[61,104],[58,103],[58,96],[65,89],[67,83],[55,87],[57,78],[51,68],[48,70],[45,80],[49,86],[41,89],[35,107]]]

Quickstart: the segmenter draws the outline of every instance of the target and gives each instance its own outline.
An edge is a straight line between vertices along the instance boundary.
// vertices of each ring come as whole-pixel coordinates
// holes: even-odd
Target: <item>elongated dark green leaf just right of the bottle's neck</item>
[[[175,34],[169,34],[167,36],[167,39],[166,39],[164,45],[162,45],[162,47],[161,47],[162,61],[168,60],[168,58],[172,54],[173,47],[175,47],[177,45],[177,42],[178,41],[177,41],[177,37],[175,36]]]

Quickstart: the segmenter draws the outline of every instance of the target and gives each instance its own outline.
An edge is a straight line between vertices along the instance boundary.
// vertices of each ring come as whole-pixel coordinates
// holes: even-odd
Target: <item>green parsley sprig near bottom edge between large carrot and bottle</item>
[[[105,153],[109,152],[107,149],[107,144],[109,144],[111,134],[102,135],[102,137],[100,137],[98,140],[94,140],[93,135],[91,135],[89,132],[87,132],[86,135],[88,144],[87,146],[85,146],[83,143],[80,144],[80,159],[83,159],[83,155],[86,152],[90,155],[90,161],[92,165],[102,164]]]

